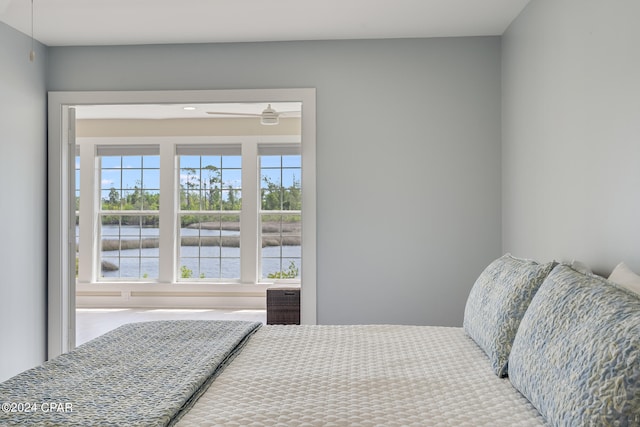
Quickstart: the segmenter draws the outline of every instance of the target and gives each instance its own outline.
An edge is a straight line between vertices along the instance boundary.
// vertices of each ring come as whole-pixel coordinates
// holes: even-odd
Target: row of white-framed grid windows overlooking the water
[[[299,282],[300,142],[235,139],[81,141],[76,163],[95,171],[76,172],[77,198],[82,191],[96,202],[93,213],[83,211],[94,221],[78,227],[94,236],[81,246],[95,248],[80,252],[92,270],[80,282]]]

